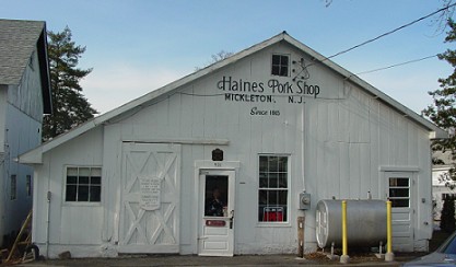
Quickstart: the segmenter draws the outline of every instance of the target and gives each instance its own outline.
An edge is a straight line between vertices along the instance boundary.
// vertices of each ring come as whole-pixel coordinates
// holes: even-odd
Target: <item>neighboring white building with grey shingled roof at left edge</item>
[[[51,112],[46,49],[45,22],[0,20],[0,246],[32,209],[33,169],[13,159],[42,143]]]

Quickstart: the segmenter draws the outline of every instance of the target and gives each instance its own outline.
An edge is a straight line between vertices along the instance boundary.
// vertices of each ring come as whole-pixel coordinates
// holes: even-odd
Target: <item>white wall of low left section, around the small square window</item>
[[[75,245],[85,255],[100,255],[102,230],[104,228],[101,204],[70,204],[65,201],[67,166],[102,166],[103,129],[97,128],[67,142],[44,155],[45,164],[35,169],[33,241],[39,245],[43,255],[56,257],[66,246]],[[108,177],[103,177],[102,184]],[[50,202],[47,193],[50,191]],[[104,191],[102,191],[102,197]],[[49,224],[48,221],[48,205]],[[106,208],[109,205],[106,204]],[[49,240],[48,237],[49,236]],[[51,244],[46,252],[47,241]],[[55,248],[52,251],[52,248]],[[78,253],[73,253],[78,255]]]

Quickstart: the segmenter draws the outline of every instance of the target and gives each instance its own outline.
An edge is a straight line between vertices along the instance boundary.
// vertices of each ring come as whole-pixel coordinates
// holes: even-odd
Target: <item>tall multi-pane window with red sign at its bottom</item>
[[[287,222],[289,158],[259,155],[258,221]]]

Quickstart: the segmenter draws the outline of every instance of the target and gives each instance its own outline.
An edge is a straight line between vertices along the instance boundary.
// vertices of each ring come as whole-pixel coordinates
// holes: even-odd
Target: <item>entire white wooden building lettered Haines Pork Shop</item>
[[[395,249],[425,251],[430,142],[444,137],[284,32],[20,162],[35,169],[33,241],[49,257],[295,253],[303,216],[309,252],[318,200],[369,194],[394,202]]]

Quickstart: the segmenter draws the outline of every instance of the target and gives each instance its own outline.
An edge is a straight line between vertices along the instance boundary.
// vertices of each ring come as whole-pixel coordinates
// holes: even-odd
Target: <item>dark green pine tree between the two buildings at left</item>
[[[92,71],[77,67],[84,51],[85,47],[77,46],[71,39],[68,26],[61,33],[48,33],[52,114],[44,117],[44,141],[93,118],[97,113],[83,96],[79,84]]]

